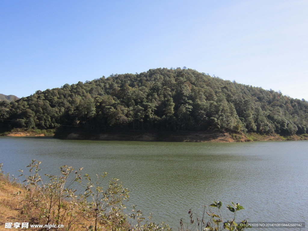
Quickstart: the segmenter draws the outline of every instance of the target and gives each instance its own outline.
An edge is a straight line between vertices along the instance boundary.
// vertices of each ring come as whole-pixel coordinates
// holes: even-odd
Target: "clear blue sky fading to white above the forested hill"
[[[308,100],[307,0],[0,1],[0,93],[188,67]]]

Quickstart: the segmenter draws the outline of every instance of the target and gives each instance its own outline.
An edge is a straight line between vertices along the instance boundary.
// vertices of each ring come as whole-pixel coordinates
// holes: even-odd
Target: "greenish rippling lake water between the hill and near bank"
[[[41,174],[64,164],[92,176],[108,172],[130,190],[130,205],[177,230],[188,210],[232,202],[236,221],[308,221],[308,141],[181,143],[0,137],[3,170],[19,175],[31,159]],[[26,171],[25,171],[26,172]],[[58,173],[59,174],[59,173]],[[230,213],[224,213],[232,218]],[[262,229],[257,229],[262,230]],[[271,230],[275,230],[274,228]],[[281,229],[277,229],[281,230]],[[286,230],[286,229],[284,229]],[[292,229],[298,230],[298,229]]]

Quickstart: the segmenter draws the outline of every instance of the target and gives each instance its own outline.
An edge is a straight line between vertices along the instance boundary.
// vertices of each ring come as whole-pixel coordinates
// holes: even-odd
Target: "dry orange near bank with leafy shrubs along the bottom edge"
[[[124,202],[129,199],[127,188],[118,179],[109,181],[109,186],[104,190],[102,182],[107,173],[93,179],[88,174],[81,175],[81,169],[61,166],[60,175],[52,176],[44,174],[48,180],[43,180],[39,175],[39,161],[32,160],[29,168],[30,175],[25,177],[20,184],[16,178],[10,180],[9,175],[2,172],[0,164],[0,230],[5,222],[29,222],[29,224],[64,224],[64,228],[39,230],[72,230],[72,231],[170,231],[165,223],[152,222],[152,215],[147,218],[140,209],[133,206],[132,213],[124,213]],[[81,184],[85,191],[83,194],[75,194],[76,184]],[[235,215],[238,210],[244,209],[241,205],[233,203],[227,205],[227,209],[234,216],[226,220],[221,217],[221,201],[214,201],[209,205],[216,209],[206,211],[200,216],[189,209],[190,222],[184,224],[180,220],[181,231],[220,231],[220,230],[244,230],[247,221],[235,223]]]

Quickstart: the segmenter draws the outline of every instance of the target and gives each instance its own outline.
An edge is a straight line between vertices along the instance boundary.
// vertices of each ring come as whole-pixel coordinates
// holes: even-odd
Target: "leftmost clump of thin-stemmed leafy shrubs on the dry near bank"
[[[25,176],[28,194],[24,198],[26,205],[31,205],[33,212],[39,214],[39,219],[42,219],[45,224],[55,223],[63,224],[65,222],[70,229],[71,225],[80,217],[81,210],[79,204],[84,200],[75,195],[76,189],[73,189],[74,182],[81,180],[79,171],[75,171],[73,177],[69,177],[74,168],[67,165],[59,167],[60,176],[44,174],[48,180],[44,181],[39,175],[41,161],[32,160],[29,164],[30,176],[25,176],[23,170],[19,170]],[[64,199],[65,198],[65,199]],[[27,206],[25,206],[27,209]]]

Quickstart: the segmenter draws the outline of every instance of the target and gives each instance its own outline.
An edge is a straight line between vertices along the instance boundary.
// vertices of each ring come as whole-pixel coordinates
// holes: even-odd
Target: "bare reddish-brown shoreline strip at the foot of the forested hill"
[[[178,132],[89,132],[67,131],[55,132],[41,130],[22,130],[2,133],[2,136],[11,137],[54,137],[63,140],[121,140],[121,141],[148,141],[148,142],[212,142],[233,143],[253,141],[283,141],[308,140],[308,135],[281,136],[279,134],[261,135],[257,133],[229,133],[224,131],[178,131]]]

